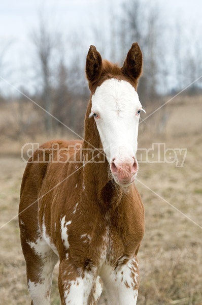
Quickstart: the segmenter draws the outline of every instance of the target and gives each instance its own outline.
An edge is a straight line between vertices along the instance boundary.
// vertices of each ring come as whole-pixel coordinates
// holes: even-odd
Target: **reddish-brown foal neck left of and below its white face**
[[[82,145],[83,158],[88,154],[88,160],[93,158],[93,162],[88,162],[83,168],[84,179],[87,179],[90,185],[96,189],[97,197],[105,206],[116,205],[121,200],[122,189],[116,185],[113,179],[110,179],[110,166],[103,150],[103,145],[99,137],[94,118],[89,118],[91,113],[91,98],[87,106],[85,116],[85,136]],[[93,154],[91,154],[93,151]],[[99,154],[99,158],[98,155]],[[101,162],[100,162],[101,160]],[[95,161],[95,162],[94,162]]]

